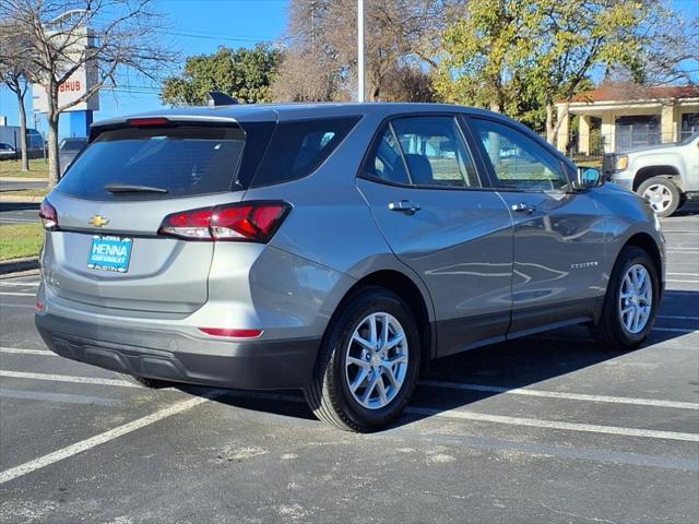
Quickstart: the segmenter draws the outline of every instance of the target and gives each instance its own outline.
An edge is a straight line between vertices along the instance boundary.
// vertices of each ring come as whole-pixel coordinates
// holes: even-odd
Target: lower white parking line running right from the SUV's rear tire
[[[507,417],[503,415],[487,415],[484,413],[461,409],[434,409],[427,407],[406,407],[405,413],[429,417],[454,418],[460,420],[477,420],[483,422],[507,424],[510,426],[529,426],[545,429],[561,429],[565,431],[583,431],[589,433],[605,433],[620,437],[640,437],[645,439],[682,440],[699,442],[699,434],[678,431],[660,431],[654,429],[621,428],[617,426],[599,426],[596,424],[561,422],[557,420],[541,420],[537,418]]]

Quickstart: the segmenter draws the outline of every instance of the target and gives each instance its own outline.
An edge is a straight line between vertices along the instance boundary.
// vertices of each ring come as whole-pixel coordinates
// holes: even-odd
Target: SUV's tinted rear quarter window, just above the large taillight
[[[310,175],[358,121],[359,117],[342,117],[277,123],[251,187],[288,182]]]

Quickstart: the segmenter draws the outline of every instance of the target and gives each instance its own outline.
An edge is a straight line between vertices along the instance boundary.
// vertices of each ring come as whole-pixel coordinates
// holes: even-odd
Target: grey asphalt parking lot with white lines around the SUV
[[[699,521],[699,210],[663,221],[651,340],[584,327],[436,361],[374,434],[295,392],[150,391],[46,350],[0,279],[0,523]]]

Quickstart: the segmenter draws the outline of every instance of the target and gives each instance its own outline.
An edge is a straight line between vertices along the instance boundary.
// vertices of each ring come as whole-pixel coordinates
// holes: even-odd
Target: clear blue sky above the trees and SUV
[[[673,7],[686,17],[696,16],[698,0],[673,0]],[[161,0],[161,10],[168,16],[171,38],[183,57],[210,53],[220,45],[248,47],[256,41],[279,39],[286,25],[288,0]],[[131,92],[103,93],[100,110],[95,120],[118,115],[129,115],[161,106],[157,90],[143,90],[144,82],[134,81]],[[31,98],[31,97],[28,97]],[[27,115],[32,121],[32,104]],[[17,106],[14,94],[0,88],[0,116],[8,117],[9,124],[17,124]],[[68,118],[61,118],[61,135],[69,132]],[[39,117],[38,129],[46,129]]]

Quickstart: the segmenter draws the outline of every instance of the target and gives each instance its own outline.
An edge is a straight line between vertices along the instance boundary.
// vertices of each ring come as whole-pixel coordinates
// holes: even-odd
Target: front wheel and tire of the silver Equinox
[[[625,282],[632,269],[641,273],[643,271],[645,272],[649,281],[648,286],[650,286],[650,300],[648,296],[643,299],[638,298],[638,296],[642,294],[635,291],[630,276],[629,281]],[[642,285],[640,287],[643,288]],[[629,289],[632,294],[636,293],[636,298],[625,299],[621,296],[624,290]],[[636,246],[624,248],[612,271],[612,277],[609,278],[607,293],[602,306],[602,313],[597,323],[593,326],[593,334],[599,344],[612,350],[628,350],[642,344],[653,329],[659,298],[660,282],[657,270],[650,255],[643,249]],[[638,300],[636,306],[633,305],[635,300]],[[635,325],[633,320],[636,317],[633,317],[633,311],[636,308],[644,310],[645,306],[650,306],[645,321],[642,325],[640,323],[639,325]],[[623,310],[631,312],[623,314]],[[639,315],[639,320],[641,318],[642,315]],[[629,319],[631,320],[630,327],[627,324]]]

